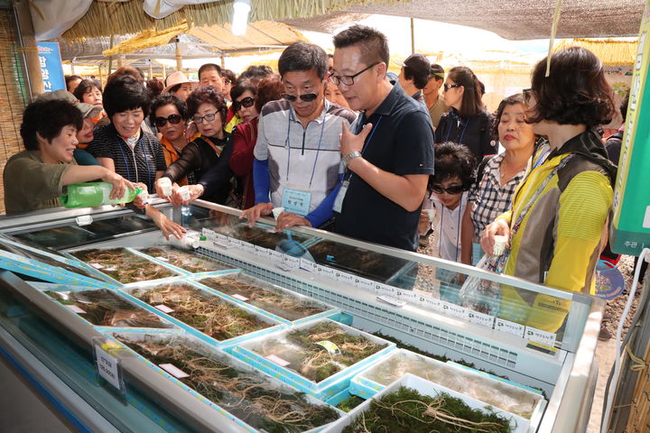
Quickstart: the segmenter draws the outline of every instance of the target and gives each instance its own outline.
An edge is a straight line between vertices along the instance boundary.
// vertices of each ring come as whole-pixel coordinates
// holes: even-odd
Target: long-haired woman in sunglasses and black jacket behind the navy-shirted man
[[[481,84],[474,72],[465,66],[450,69],[443,89],[444,102],[450,111],[441,117],[435,130],[435,143],[465,144],[476,161],[497,153],[490,134],[492,118],[483,106]]]

